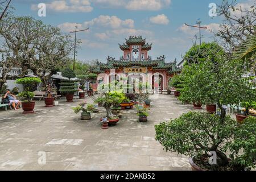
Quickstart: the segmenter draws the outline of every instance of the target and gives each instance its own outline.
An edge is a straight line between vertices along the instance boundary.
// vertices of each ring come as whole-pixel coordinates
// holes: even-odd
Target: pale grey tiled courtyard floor
[[[100,117],[80,121],[80,114],[63,98],[60,105],[44,107],[37,101],[34,114],[22,109],[0,110],[1,170],[190,170],[188,158],[165,152],[155,141],[154,125],[192,109],[174,96],[159,95],[151,102],[147,123],[139,123],[136,110],[124,110],[121,121],[101,129]],[[90,101],[86,98],[86,101]],[[40,156],[46,152],[46,164]]]

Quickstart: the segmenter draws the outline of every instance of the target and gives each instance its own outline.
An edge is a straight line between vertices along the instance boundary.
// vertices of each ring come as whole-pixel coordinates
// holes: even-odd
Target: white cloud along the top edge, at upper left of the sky
[[[76,13],[76,12],[90,12],[93,10],[93,7],[90,6],[89,0],[60,0],[60,1],[52,1],[50,3],[46,3],[46,8],[49,10],[57,11],[57,12],[68,12],[68,13]],[[38,5],[31,5],[32,10],[38,10]]]

